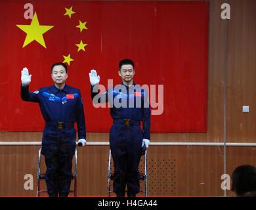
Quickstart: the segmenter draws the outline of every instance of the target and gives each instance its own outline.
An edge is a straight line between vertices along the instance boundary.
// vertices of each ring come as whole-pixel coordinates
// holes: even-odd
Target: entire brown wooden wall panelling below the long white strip
[[[39,146],[0,147],[0,196],[36,195],[38,150]],[[109,146],[77,148],[77,196],[107,196],[108,152]],[[238,165],[255,164],[255,153],[255,147],[228,146],[226,173],[231,177]],[[150,146],[148,196],[223,196],[223,156],[223,146]],[[41,169],[45,171],[43,159]],[[24,189],[26,174],[33,175],[33,190]],[[227,195],[234,196],[230,190]]]

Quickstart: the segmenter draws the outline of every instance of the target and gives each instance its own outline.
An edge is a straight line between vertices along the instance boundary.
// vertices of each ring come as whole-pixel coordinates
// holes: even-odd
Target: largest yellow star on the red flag
[[[18,28],[20,28],[22,31],[27,33],[26,39],[24,41],[24,44],[22,46],[25,47],[32,41],[37,41],[40,45],[46,48],[45,46],[45,40],[43,39],[43,33],[46,31],[49,31],[54,26],[41,26],[39,25],[37,13],[33,15],[33,19],[30,25],[16,25]]]

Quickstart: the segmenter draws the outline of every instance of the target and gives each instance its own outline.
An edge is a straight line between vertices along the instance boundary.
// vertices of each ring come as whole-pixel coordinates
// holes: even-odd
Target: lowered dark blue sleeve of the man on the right
[[[150,101],[148,96],[148,91],[143,89],[143,119],[142,119],[142,127],[143,127],[143,138],[150,140]]]

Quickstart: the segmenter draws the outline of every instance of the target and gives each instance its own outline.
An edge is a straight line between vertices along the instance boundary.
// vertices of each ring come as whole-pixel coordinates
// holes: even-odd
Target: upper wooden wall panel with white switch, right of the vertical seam
[[[226,75],[226,140],[256,142],[256,1],[230,1]],[[249,106],[249,113],[242,106]]]

